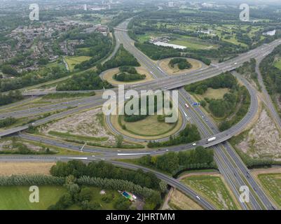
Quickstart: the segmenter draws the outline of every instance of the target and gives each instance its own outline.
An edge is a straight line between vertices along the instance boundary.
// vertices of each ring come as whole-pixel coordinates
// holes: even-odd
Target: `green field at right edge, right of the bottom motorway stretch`
[[[281,208],[281,174],[259,174],[259,181]]]

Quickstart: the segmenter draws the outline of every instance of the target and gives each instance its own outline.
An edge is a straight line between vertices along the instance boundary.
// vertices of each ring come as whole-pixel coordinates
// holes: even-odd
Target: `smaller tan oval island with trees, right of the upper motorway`
[[[203,63],[196,59],[175,57],[160,60],[160,68],[170,75],[177,75],[179,73],[196,71],[203,67]]]

